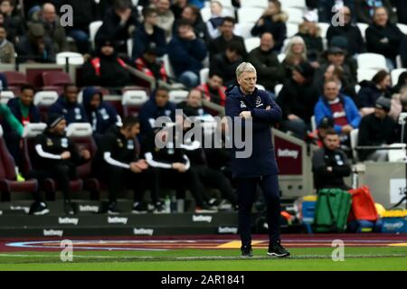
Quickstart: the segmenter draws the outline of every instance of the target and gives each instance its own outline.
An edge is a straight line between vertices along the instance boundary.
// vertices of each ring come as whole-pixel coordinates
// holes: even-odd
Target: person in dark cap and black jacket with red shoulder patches
[[[116,43],[99,39],[97,53],[83,65],[82,81],[86,86],[121,89],[131,83],[125,61],[118,58]]]

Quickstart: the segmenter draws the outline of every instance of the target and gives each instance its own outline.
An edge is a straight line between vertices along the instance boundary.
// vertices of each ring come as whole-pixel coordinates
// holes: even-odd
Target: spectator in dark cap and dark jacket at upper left
[[[40,23],[29,24],[28,33],[15,45],[18,61],[54,63],[55,51],[52,40],[45,35],[43,25]]]

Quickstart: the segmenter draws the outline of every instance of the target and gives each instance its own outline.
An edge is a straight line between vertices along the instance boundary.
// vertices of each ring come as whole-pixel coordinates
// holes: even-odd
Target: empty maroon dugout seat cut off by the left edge
[[[1,200],[11,200],[12,192],[34,192],[38,189],[36,180],[16,181],[15,163],[8,152],[3,138],[3,128],[0,126],[0,194]]]

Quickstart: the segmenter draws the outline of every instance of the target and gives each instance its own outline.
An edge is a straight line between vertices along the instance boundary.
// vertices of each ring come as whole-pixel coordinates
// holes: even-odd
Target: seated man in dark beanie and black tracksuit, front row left
[[[30,214],[49,212],[40,190],[43,189],[45,179],[51,178],[62,191],[65,214],[73,215],[75,211],[71,204],[70,181],[77,178],[76,168],[90,160],[90,152],[86,149],[79,150],[65,135],[67,121],[62,115],[50,115],[46,124],[43,134],[35,139],[33,170],[28,173],[29,179],[37,179],[40,184],[39,190],[34,193]]]

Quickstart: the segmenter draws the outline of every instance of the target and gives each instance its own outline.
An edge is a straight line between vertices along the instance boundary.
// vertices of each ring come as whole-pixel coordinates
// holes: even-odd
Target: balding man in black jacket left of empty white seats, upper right
[[[332,39],[337,36],[342,36],[347,40],[346,50],[350,55],[355,55],[365,51],[364,38],[359,27],[352,23],[352,13],[349,7],[344,6],[339,10],[340,25],[334,26],[331,24],[327,30],[328,45],[332,45]],[[344,23],[341,23],[344,19]]]

